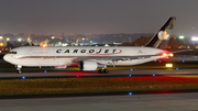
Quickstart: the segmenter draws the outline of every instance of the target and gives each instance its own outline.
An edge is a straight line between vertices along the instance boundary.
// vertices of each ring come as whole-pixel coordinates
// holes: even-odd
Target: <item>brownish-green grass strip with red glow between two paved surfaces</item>
[[[0,80],[0,96],[198,89],[198,78],[110,77]]]

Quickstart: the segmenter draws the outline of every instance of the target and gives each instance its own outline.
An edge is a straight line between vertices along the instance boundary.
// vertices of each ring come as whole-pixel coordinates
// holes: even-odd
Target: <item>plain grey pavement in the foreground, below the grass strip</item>
[[[198,92],[1,99],[0,111],[197,111]]]

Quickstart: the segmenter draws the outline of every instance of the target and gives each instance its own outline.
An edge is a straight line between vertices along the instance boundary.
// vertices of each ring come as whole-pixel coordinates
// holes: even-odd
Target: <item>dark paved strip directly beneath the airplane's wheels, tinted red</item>
[[[111,77],[111,76],[198,76],[198,69],[123,69],[110,70],[109,74],[99,74],[98,71],[23,71],[16,73],[0,73],[0,79],[3,77]]]

